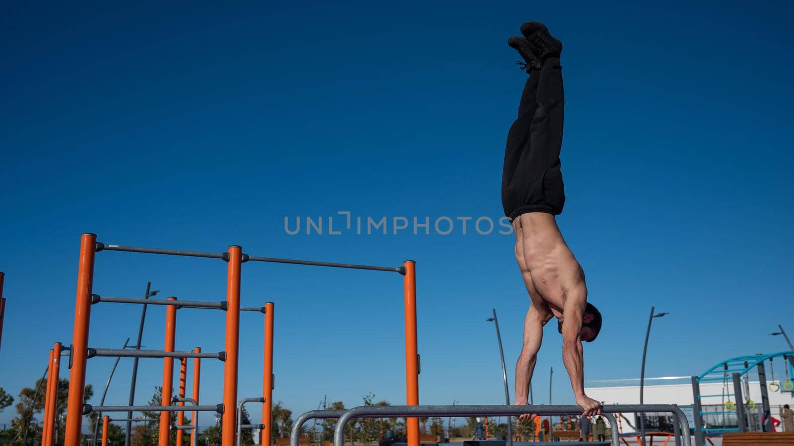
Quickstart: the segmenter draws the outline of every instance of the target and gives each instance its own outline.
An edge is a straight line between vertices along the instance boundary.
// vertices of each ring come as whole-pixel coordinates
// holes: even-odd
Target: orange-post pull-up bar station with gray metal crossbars
[[[65,446],[79,446],[80,444],[80,426],[82,425],[82,415],[90,413],[92,410],[96,411],[139,411],[141,409],[148,411],[160,410],[161,426],[164,421],[170,423],[170,411],[183,410],[184,406],[96,406],[83,405],[83,392],[85,389],[86,377],[86,364],[89,354],[88,334],[89,325],[91,320],[91,305],[92,303],[99,302],[119,302],[119,303],[137,303],[137,304],[153,304],[168,306],[168,313],[170,310],[175,311],[175,306],[188,306],[191,308],[210,308],[216,310],[224,310],[225,315],[225,356],[222,357],[221,353],[210,354],[217,355],[218,359],[224,362],[223,374],[223,402],[217,406],[193,406],[193,411],[214,410],[219,413],[225,413],[222,417],[222,446],[234,446],[235,433],[237,425],[237,413],[234,413],[233,408],[237,405],[237,371],[238,371],[238,354],[239,354],[239,337],[240,337],[240,281],[241,281],[241,266],[242,263],[249,261],[256,262],[269,262],[269,263],[291,263],[299,265],[313,265],[318,267],[339,267],[339,268],[353,268],[360,270],[371,271],[391,271],[403,275],[403,303],[405,307],[405,342],[406,342],[406,387],[407,387],[407,404],[410,406],[418,405],[419,392],[418,392],[418,374],[419,374],[419,355],[417,352],[417,336],[416,336],[416,274],[415,263],[413,260],[406,260],[401,267],[378,267],[372,265],[362,265],[353,263],[330,263],[330,262],[316,262],[310,260],[293,260],[293,259],[280,259],[274,257],[260,257],[249,256],[242,252],[242,248],[237,245],[229,246],[227,252],[195,252],[195,251],[181,251],[173,249],[161,248],[140,248],[133,246],[121,246],[117,244],[103,244],[97,242],[96,235],[92,233],[84,233],[80,240],[80,256],[78,267],[78,280],[77,292],[75,297],[75,325],[72,336],[71,346],[71,372],[69,379],[69,396],[67,402],[67,417],[66,417],[66,434],[64,436]],[[227,279],[226,279],[226,299],[223,302],[178,302],[176,299],[167,299],[169,302],[155,302],[154,299],[133,299],[133,298],[94,298],[92,283],[94,275],[94,258],[96,252],[102,251],[121,251],[121,252],[144,252],[150,254],[162,254],[168,256],[189,256],[189,257],[202,257],[208,259],[223,260],[227,263]],[[122,302],[123,299],[123,302]],[[186,305],[187,304],[187,305]],[[267,317],[267,315],[266,315]],[[272,325],[270,325],[272,327]],[[265,337],[265,369],[272,371],[272,351],[268,355],[267,343],[268,329],[266,329]],[[271,332],[272,336],[272,332]],[[271,338],[272,339],[272,338]],[[173,363],[173,355],[166,356],[168,353],[173,352],[172,343],[166,343],[167,348],[164,351],[145,351],[136,350],[132,356],[137,357],[159,357],[164,358],[164,379],[172,378],[168,375],[166,370],[166,363]],[[171,346],[168,348],[168,346]],[[95,352],[102,349],[94,349]],[[169,352],[169,350],[171,352]],[[194,357],[194,356],[188,356]],[[170,361],[169,361],[170,359]],[[268,385],[269,381],[269,385]],[[268,406],[271,405],[272,399],[270,390],[272,390],[272,373],[265,374],[264,377],[263,398],[267,402],[263,403],[263,415],[268,416]],[[170,387],[170,386],[169,386]],[[166,392],[166,390],[169,390]],[[170,388],[163,389],[164,395],[170,395]],[[225,410],[228,408],[228,410]],[[262,444],[269,446],[270,444],[270,420],[265,418],[265,429]],[[194,429],[195,430],[195,429]],[[407,420],[407,436],[409,446],[419,446],[419,424],[418,419],[415,417]],[[160,446],[168,445],[168,429],[160,429]]]

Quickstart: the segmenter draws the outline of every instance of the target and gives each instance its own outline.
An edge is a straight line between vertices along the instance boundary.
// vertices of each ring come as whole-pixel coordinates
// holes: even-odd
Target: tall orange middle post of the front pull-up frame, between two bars
[[[242,248],[237,245],[229,246],[229,266],[226,271],[226,361],[223,364],[222,446],[234,446],[237,434],[237,360],[240,348],[241,265]]]

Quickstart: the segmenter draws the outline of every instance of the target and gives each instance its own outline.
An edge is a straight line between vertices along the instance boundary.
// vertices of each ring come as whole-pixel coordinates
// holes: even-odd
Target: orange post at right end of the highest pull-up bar
[[[419,353],[416,340],[416,263],[403,262],[405,297],[405,382],[407,405],[419,404]],[[419,446],[419,420],[407,418],[408,446]]]

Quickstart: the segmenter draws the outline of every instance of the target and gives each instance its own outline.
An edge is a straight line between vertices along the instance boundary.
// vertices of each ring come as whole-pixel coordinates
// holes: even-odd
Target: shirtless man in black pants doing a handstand
[[[522,69],[530,77],[518,104],[518,117],[507,134],[502,175],[502,205],[513,222],[515,258],[531,300],[515,365],[515,404],[527,404],[543,326],[557,317],[562,360],[576,404],[584,409],[584,416],[593,416],[601,413],[601,406],[584,394],[582,341],[592,342],[598,336],[601,314],[588,303],[584,271],[554,219],[565,204],[560,170],[565,106],[562,44],[536,21],[522,25],[521,33],[524,37],[511,37],[507,43],[525,60]]]

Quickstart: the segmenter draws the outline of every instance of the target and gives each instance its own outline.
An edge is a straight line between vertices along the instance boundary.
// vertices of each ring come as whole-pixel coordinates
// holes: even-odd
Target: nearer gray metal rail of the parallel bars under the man
[[[684,432],[684,446],[691,446],[689,433],[689,423],[684,416],[684,412],[677,406],[665,404],[646,404],[646,405],[612,405],[603,406],[602,413],[647,413],[647,412],[670,412],[675,413],[680,422],[681,430]],[[345,426],[355,417],[445,417],[445,416],[476,416],[476,415],[501,415],[518,416],[525,413],[538,413],[540,415],[579,415],[582,413],[580,406],[359,406],[349,409],[337,422],[333,432],[334,446],[345,446]],[[615,417],[609,417],[610,425],[615,423],[612,428],[613,444],[617,445],[618,438]]]

